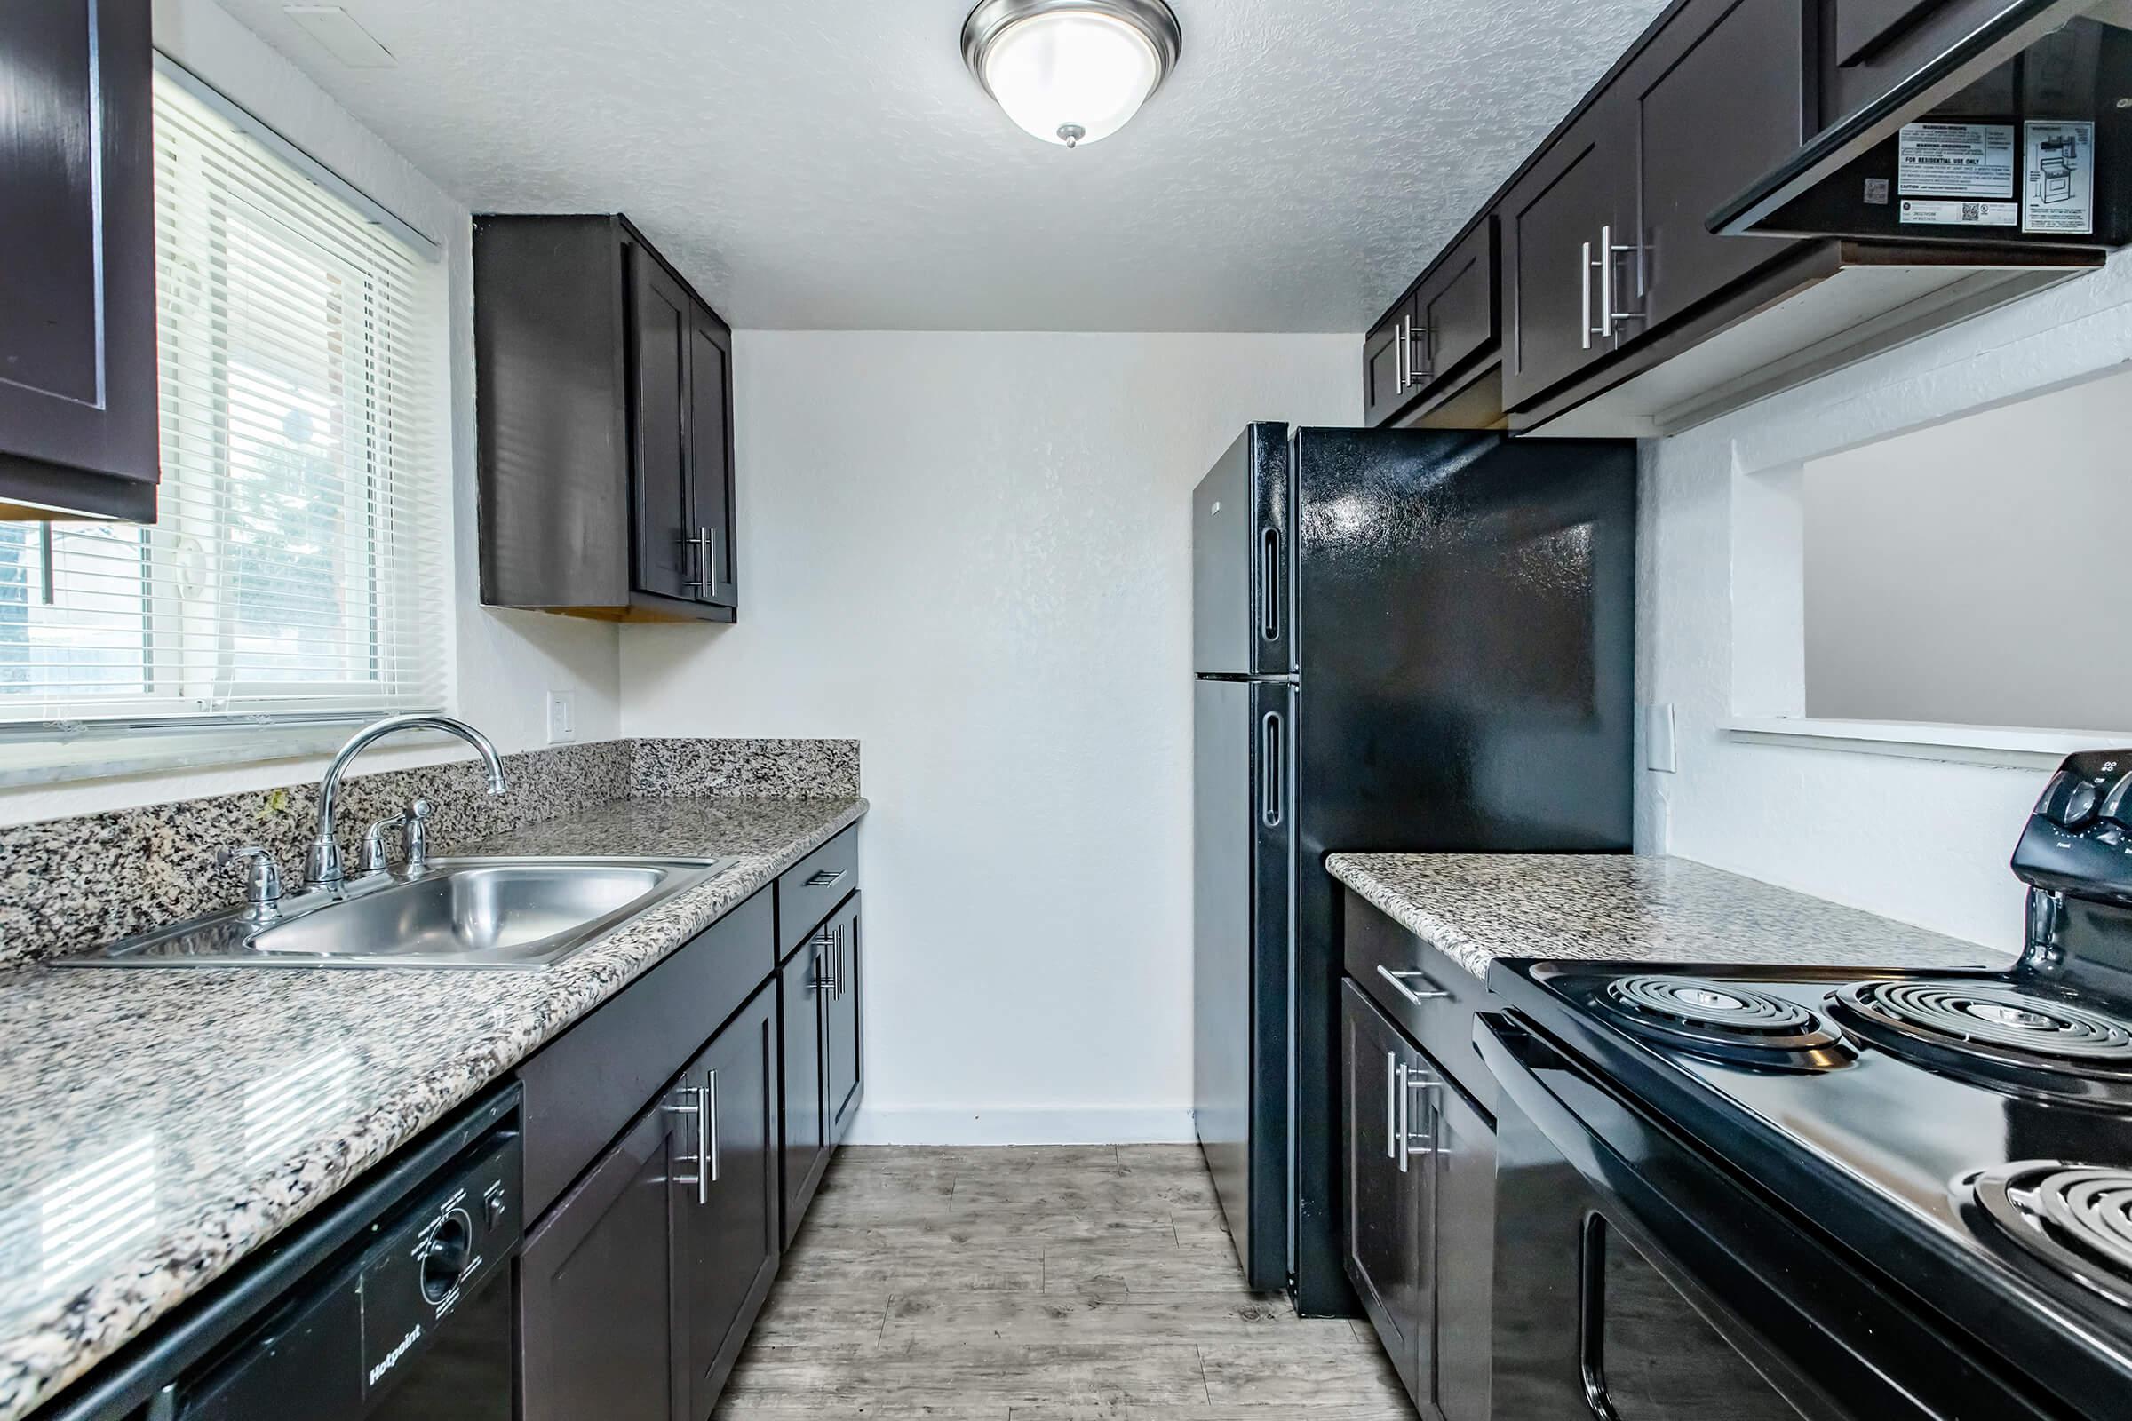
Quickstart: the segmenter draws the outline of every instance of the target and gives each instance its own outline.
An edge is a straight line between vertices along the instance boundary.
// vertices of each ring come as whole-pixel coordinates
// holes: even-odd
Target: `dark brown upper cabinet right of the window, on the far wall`
[[[475,217],[482,601],[731,622],[733,332],[627,217]]]

